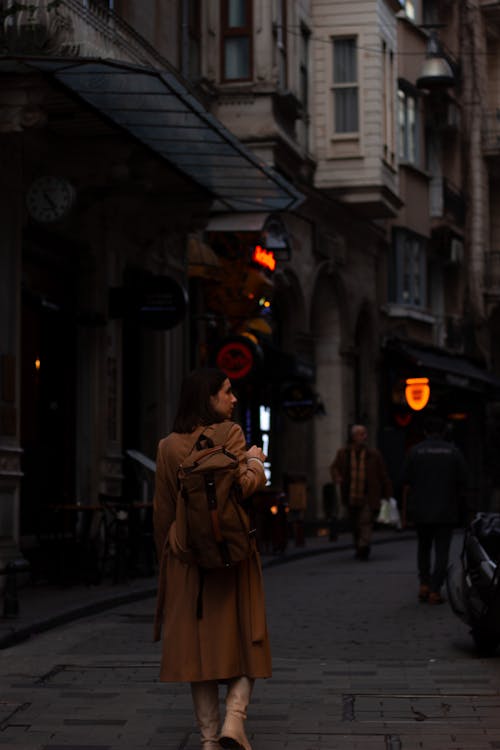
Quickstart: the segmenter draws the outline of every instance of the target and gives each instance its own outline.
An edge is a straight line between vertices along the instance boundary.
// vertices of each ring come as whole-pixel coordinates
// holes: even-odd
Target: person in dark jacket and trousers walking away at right
[[[448,569],[453,529],[464,519],[468,471],[460,450],[444,439],[444,420],[430,416],[425,439],[408,453],[402,471],[403,524],[417,531],[418,598],[442,604],[441,588]],[[434,565],[431,557],[434,552]]]

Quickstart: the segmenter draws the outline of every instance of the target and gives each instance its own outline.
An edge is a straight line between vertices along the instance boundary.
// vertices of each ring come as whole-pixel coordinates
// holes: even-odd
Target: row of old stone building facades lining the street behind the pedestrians
[[[47,503],[137,492],[127,451],[154,458],[221,352],[309,518],[355,422],[397,485],[411,376],[490,492],[495,6],[4,2],[2,559]],[[430,89],[429,24],[453,79]]]

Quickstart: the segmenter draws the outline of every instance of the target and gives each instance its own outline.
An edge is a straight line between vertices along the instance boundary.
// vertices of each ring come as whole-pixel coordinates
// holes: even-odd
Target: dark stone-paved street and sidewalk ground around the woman
[[[411,533],[377,537],[369,563],[347,537],[265,558],[273,677],[256,683],[253,750],[500,749],[500,659],[417,602]],[[199,750],[189,689],[158,682],[153,608],[130,599],[1,651],[0,747]]]

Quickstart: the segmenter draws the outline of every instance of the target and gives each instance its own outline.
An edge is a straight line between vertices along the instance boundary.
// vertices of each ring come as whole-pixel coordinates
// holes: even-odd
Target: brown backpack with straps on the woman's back
[[[200,569],[250,556],[255,531],[241,505],[237,456],[224,447],[231,422],[207,427],[177,471],[176,536],[186,562]]]

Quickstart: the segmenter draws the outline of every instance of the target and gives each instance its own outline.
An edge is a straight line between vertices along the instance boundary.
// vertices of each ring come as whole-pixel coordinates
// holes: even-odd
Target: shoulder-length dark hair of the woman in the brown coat
[[[187,375],[181,386],[174,432],[193,432],[200,425],[220,422],[221,418],[210,404],[227,380],[227,375],[216,367],[202,367]]]

